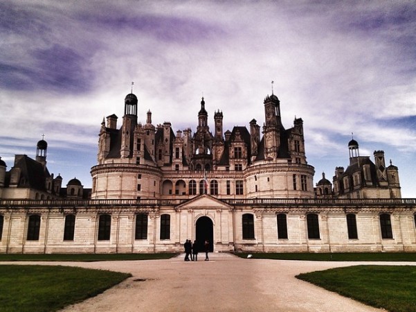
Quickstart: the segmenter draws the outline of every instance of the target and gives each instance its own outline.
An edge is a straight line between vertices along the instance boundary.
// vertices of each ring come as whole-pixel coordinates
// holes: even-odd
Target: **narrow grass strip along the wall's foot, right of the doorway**
[[[236,253],[247,258],[249,253]],[[416,252],[253,253],[253,259],[306,261],[416,261]]]

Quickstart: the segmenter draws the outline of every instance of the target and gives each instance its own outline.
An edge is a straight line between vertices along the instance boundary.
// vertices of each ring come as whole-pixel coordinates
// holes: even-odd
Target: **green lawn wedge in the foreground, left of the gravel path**
[[[0,266],[0,310],[57,311],[130,276],[69,266]]]

